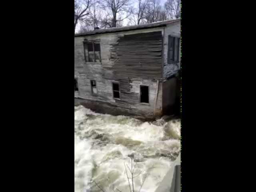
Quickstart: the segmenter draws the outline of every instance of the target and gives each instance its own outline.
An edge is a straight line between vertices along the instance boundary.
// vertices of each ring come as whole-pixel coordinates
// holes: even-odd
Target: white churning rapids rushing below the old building
[[[124,163],[136,168],[134,190],[154,192],[180,153],[180,120],[143,122],[75,106],[75,192],[129,192]],[[128,172],[130,177],[130,173]],[[117,190],[115,190],[117,191]]]

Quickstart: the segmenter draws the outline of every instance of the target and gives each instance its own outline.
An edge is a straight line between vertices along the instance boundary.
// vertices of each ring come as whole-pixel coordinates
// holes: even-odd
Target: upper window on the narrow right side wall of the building
[[[180,61],[180,38],[168,36],[168,64]]]

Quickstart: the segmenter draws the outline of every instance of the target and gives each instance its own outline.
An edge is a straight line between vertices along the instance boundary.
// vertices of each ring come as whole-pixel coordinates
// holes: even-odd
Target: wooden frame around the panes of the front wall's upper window
[[[89,43],[92,43],[92,49],[93,51],[90,51],[90,52],[93,52],[93,55],[94,55],[94,60],[93,61],[89,61],[89,58],[90,58],[90,55],[89,55],[89,50],[88,50],[88,44]],[[86,63],[101,63],[101,46],[100,46],[100,51],[97,51],[99,52],[99,62],[96,62],[96,54],[95,54],[95,48],[94,48],[94,44],[99,44],[100,45],[100,40],[92,40],[92,41],[88,41],[88,40],[84,40],[83,41],[83,46],[84,46],[84,60]],[[88,58],[86,57],[86,53],[88,54]]]

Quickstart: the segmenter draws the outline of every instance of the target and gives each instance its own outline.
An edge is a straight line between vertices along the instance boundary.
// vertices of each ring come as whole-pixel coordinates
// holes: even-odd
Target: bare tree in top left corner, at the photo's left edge
[[[91,0],[75,0],[74,9],[74,32],[76,31],[76,26],[78,21],[85,22],[84,16],[88,15],[89,8],[91,5]]]

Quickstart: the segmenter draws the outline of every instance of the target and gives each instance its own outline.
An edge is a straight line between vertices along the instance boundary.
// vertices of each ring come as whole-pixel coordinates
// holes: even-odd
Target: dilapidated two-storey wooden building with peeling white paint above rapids
[[[177,101],[180,19],[75,35],[75,104],[162,116]]]

